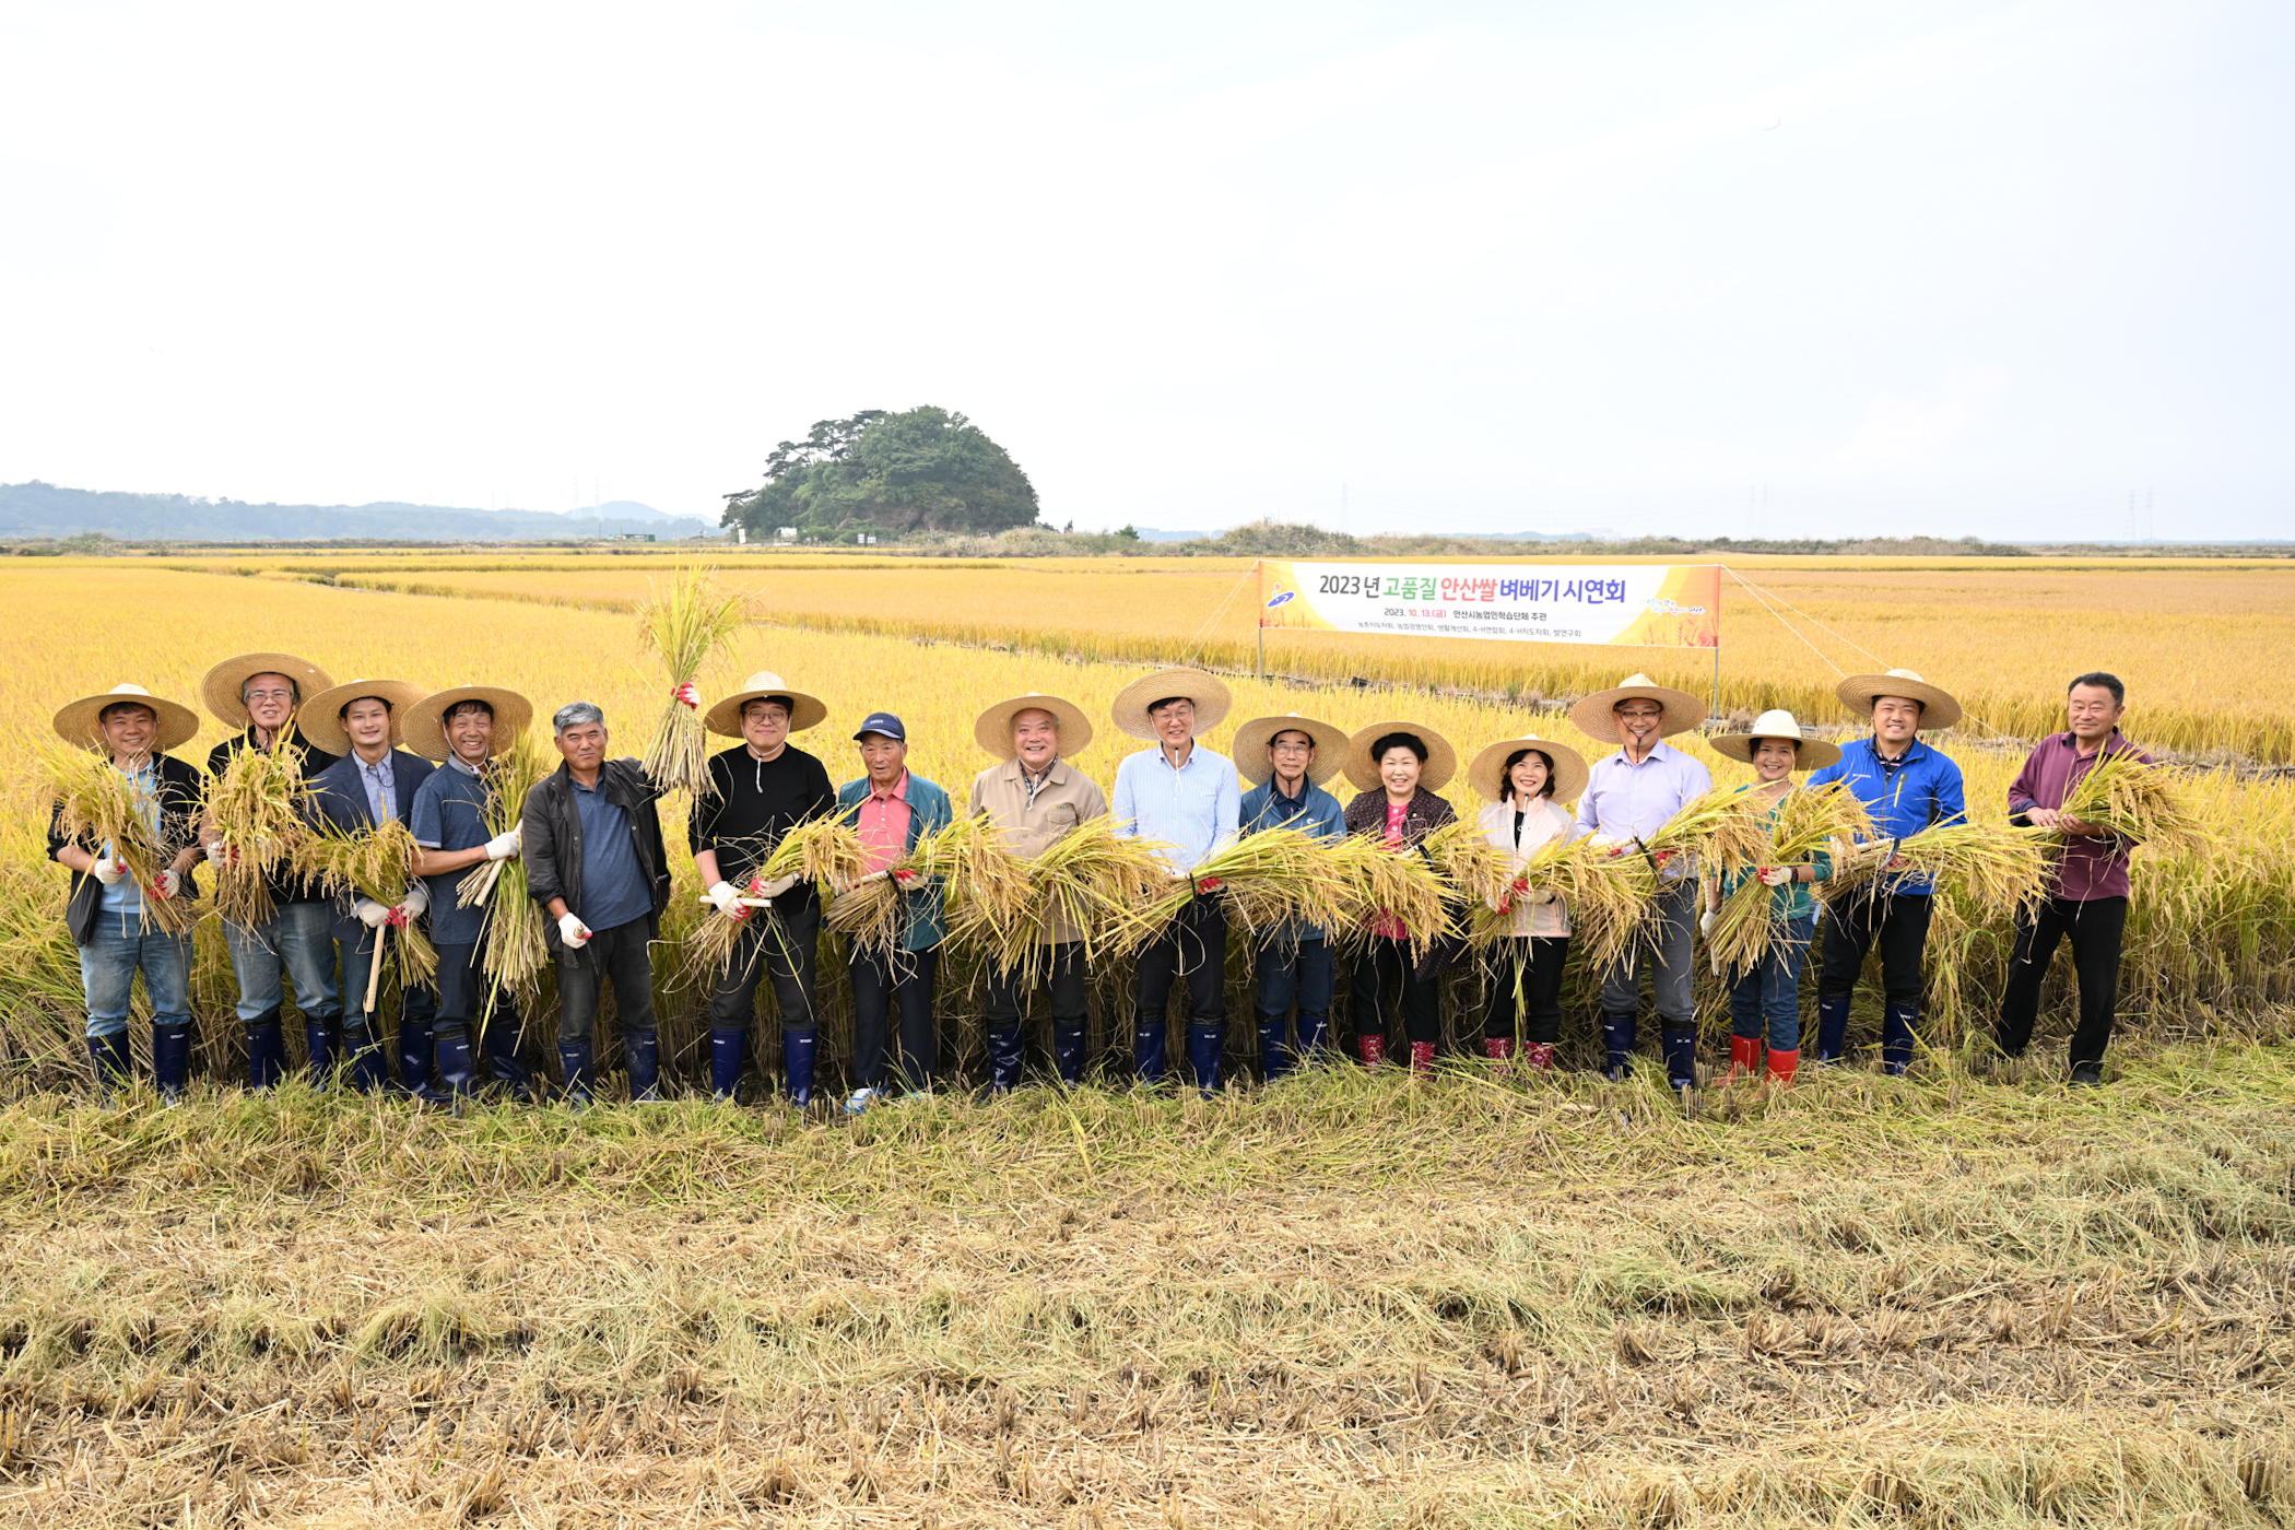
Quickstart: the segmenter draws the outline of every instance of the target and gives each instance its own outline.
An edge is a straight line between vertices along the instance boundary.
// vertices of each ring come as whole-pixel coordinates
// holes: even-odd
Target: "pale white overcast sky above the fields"
[[[1090,528],[2295,537],[2290,78],[2284,0],[0,0],[0,482],[714,518],[939,404]]]

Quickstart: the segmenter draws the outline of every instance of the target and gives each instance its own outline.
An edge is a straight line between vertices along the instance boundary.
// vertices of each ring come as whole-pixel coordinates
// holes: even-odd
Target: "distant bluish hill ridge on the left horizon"
[[[0,484],[0,537],[78,537],[122,541],[565,541],[652,532],[700,537],[718,528],[698,516],[668,516],[652,505],[615,500],[569,514],[539,509],[459,509],[448,505],[248,505],[181,493],[117,493],[55,484]]]

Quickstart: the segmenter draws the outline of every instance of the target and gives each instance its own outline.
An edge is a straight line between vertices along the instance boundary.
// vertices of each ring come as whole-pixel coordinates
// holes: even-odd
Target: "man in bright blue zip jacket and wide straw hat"
[[[1845,780],[1891,844],[1937,823],[1960,823],[1967,798],[1960,766],[1921,743],[1921,729],[1960,720],[1960,702],[1912,670],[1850,674],[1834,693],[1850,711],[1873,718],[1873,736],[1841,746],[1841,762],[1808,778],[1811,787]],[[1825,911],[1825,957],[1818,968],[1818,1062],[1841,1062],[1850,1030],[1850,996],[1866,954],[1880,947],[1880,1060],[1889,1074],[1912,1067],[1921,1025],[1921,957],[1935,885],[1909,874],[1903,858],[1861,890]]]

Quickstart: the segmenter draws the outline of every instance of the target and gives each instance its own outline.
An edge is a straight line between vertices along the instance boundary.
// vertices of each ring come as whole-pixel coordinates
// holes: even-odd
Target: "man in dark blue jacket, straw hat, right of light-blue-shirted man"
[[[1347,732],[1301,718],[1253,718],[1235,729],[1235,768],[1255,782],[1244,794],[1244,833],[1297,828],[1310,840],[1345,840],[1347,810],[1322,789],[1347,764]],[[1292,1057],[1315,1062],[1331,1037],[1331,931],[1292,920],[1255,959],[1260,1074],[1267,1083],[1292,1069]],[[1299,1005],[1299,1051],[1285,1046],[1292,1002]]]

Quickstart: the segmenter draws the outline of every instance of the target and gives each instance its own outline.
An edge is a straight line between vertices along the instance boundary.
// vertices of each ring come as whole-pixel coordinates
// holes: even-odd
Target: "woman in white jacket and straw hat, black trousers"
[[[1549,840],[1574,840],[1577,817],[1565,803],[1586,791],[1586,757],[1549,739],[1503,739],[1476,755],[1467,780],[1489,798],[1483,833],[1522,865]],[[1545,890],[1501,904],[1515,929],[1492,950],[1489,1009],[1483,1014],[1483,1053],[1508,1067],[1515,1046],[1540,1074],[1554,1071],[1563,1025],[1563,959],[1570,954],[1570,911]]]

